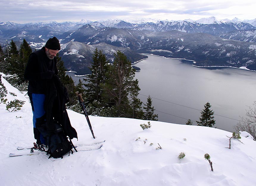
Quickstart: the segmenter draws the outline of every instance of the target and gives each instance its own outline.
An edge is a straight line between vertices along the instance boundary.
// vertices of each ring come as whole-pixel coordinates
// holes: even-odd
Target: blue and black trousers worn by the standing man
[[[45,144],[43,135],[40,134],[40,132],[36,129],[38,122],[42,122],[42,118],[45,115],[45,110],[44,110],[45,95],[44,94],[28,93],[28,96],[29,96],[29,99],[31,102],[32,112],[33,112],[33,127],[34,127],[35,139],[36,140],[40,139],[41,144]],[[45,121],[45,119],[43,119],[43,121]],[[37,139],[37,138],[39,138],[39,139]]]

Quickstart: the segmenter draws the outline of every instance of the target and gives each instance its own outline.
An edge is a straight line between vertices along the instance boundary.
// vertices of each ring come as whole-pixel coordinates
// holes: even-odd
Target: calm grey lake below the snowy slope
[[[197,125],[208,101],[214,111],[214,127],[233,132],[247,106],[256,101],[256,72],[236,68],[197,68],[193,62],[147,55],[135,64],[141,68],[135,78],[141,88],[139,98],[150,95],[158,121]],[[183,62],[182,62],[183,61]],[[74,81],[79,77],[68,73]]]

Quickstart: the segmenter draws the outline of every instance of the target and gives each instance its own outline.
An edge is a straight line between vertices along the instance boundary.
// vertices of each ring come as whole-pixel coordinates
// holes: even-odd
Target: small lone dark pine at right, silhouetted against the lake
[[[210,110],[210,103],[207,102],[204,105],[205,109],[201,111],[201,117],[199,118],[200,121],[196,121],[198,126],[208,126],[213,127],[215,125],[215,120],[213,119],[214,112]]]

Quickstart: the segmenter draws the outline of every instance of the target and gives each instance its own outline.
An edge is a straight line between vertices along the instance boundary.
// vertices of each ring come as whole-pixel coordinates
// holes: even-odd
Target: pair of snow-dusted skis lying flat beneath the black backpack
[[[88,144],[80,144],[81,146],[76,146],[76,149],[77,151],[93,151],[93,150],[97,150],[97,149],[100,149],[102,146],[103,146],[103,142],[99,142],[98,144],[94,144],[94,145],[89,145]],[[87,146],[84,146],[84,145],[87,145]],[[9,157],[17,157],[17,156],[32,156],[32,155],[35,155],[35,154],[46,154],[46,152],[44,151],[37,151],[37,150],[34,150],[34,152],[27,152],[27,151],[19,151],[18,153],[10,153],[9,154]]]

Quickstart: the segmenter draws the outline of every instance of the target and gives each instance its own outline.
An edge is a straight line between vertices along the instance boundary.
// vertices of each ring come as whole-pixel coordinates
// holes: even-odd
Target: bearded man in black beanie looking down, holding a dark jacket
[[[28,96],[33,112],[34,137],[39,145],[46,144],[43,136],[54,131],[53,123],[56,120],[71,139],[77,137],[65,110],[67,91],[57,76],[56,55],[59,51],[59,40],[56,37],[50,38],[42,49],[30,54],[24,73],[24,79],[29,81]],[[46,134],[42,135],[42,130],[39,132],[38,128],[45,124]]]

